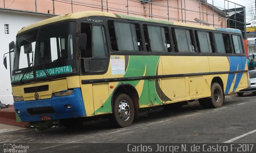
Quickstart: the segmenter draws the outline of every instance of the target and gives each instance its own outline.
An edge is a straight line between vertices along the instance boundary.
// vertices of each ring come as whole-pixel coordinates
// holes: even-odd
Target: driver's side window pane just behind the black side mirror
[[[104,27],[92,26],[92,57],[107,57]]]

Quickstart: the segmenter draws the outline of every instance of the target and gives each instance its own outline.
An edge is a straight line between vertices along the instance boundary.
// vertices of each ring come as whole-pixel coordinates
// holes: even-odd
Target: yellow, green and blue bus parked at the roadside
[[[22,28],[8,53],[23,122],[72,127],[107,115],[126,127],[140,108],[197,99],[203,108],[219,108],[225,95],[250,85],[238,29],[77,12]]]

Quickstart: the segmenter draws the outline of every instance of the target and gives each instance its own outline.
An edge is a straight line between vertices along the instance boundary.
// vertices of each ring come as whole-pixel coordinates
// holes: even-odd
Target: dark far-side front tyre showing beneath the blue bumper
[[[83,123],[83,118],[67,118],[60,120],[60,124],[66,128],[81,128]]]

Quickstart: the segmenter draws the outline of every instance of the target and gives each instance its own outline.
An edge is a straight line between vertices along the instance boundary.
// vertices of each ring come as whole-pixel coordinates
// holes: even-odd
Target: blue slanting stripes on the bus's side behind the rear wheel
[[[239,71],[239,70],[244,70],[245,69],[245,62],[246,62],[246,57],[228,57],[229,59],[229,65],[230,65],[230,69],[229,71]],[[235,92],[236,88],[239,85],[239,82],[242,78],[242,73],[239,73],[236,75],[236,80],[235,80],[235,84],[234,87],[232,89],[232,92]],[[235,78],[235,74],[228,74],[228,81],[226,84],[226,90],[225,90],[225,94],[228,94],[230,88],[231,88],[231,84],[233,82]]]

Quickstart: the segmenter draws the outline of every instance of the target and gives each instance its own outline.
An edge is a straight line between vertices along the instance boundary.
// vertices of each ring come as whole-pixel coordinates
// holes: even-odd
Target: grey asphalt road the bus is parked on
[[[48,153],[86,152],[79,149],[81,143],[87,143],[82,146],[89,145],[87,148],[93,149],[93,152],[97,149],[102,151],[99,150],[100,145],[104,144],[88,143],[256,143],[255,110],[254,94],[248,93],[243,97],[234,94],[226,96],[226,102],[217,109],[194,106],[175,111],[155,108],[142,112],[140,119],[127,128],[115,129],[108,120],[98,120],[85,122],[82,129],[60,127],[0,133],[0,143],[33,143],[30,144],[30,151],[35,149]],[[108,148],[105,152],[113,149],[111,146],[104,148]],[[119,149],[127,151],[126,147]]]

